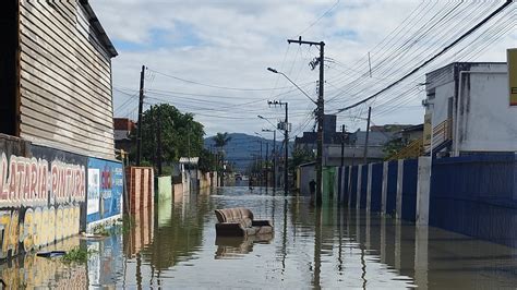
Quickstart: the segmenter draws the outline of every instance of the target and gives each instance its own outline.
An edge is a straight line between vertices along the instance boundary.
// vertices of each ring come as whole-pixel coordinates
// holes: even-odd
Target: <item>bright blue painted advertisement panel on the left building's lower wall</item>
[[[122,164],[88,158],[88,200],[86,222],[122,213]]]

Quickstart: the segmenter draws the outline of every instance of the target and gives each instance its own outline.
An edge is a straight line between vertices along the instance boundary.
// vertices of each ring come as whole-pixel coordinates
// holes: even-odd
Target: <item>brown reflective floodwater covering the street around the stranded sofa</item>
[[[214,209],[243,206],[270,219],[273,237],[217,239]],[[516,249],[265,189],[176,196],[136,227],[81,244],[84,265],[28,254],[0,264],[8,288],[494,289],[517,286]]]

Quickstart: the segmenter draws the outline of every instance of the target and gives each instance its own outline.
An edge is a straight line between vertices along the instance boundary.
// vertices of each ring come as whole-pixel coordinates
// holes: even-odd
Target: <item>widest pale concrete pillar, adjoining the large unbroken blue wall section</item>
[[[429,223],[429,195],[431,190],[431,157],[418,158],[417,225]]]

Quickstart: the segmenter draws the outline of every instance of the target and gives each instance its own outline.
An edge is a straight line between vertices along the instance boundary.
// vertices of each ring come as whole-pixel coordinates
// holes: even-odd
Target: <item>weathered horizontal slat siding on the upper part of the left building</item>
[[[21,137],[112,159],[111,61],[76,0],[20,1]]]

